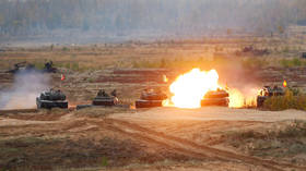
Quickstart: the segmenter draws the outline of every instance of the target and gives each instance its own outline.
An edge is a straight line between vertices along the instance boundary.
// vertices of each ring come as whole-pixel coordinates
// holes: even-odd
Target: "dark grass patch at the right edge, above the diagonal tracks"
[[[255,156],[285,158],[306,155],[305,121],[282,122],[273,129],[232,132],[226,136],[231,146]]]

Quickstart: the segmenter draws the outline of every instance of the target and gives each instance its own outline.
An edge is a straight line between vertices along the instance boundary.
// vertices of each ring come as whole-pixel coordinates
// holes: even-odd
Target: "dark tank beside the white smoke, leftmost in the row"
[[[68,101],[66,100],[66,95],[61,90],[50,89],[48,91],[43,91],[36,98],[36,105],[38,109],[51,109],[51,108],[68,108]]]

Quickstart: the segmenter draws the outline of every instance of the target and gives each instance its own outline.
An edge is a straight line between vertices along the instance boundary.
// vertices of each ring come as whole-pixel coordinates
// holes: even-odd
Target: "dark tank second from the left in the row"
[[[104,89],[101,89],[97,93],[97,96],[93,100],[93,106],[115,106],[118,103],[117,93],[113,90],[110,96],[105,93]]]

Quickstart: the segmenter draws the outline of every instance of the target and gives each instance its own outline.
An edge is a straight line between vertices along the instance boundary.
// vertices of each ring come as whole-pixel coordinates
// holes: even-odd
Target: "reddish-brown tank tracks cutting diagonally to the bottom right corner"
[[[156,145],[163,146],[167,149],[172,149],[179,154],[205,160],[221,160],[221,161],[232,161],[232,162],[243,162],[249,166],[260,166],[267,170],[282,171],[284,169],[297,169],[306,170],[306,167],[293,166],[290,163],[276,162],[273,160],[263,160],[256,157],[238,155],[231,151],[225,151],[216,148],[212,148],[205,145],[199,145],[188,139],[166,135],[161,132],[152,131],[146,127],[142,127],[138,124],[130,123],[117,119],[105,119],[107,129],[120,134],[125,134],[136,139],[144,141],[148,143],[154,143]],[[105,123],[95,122],[97,125],[104,125]]]

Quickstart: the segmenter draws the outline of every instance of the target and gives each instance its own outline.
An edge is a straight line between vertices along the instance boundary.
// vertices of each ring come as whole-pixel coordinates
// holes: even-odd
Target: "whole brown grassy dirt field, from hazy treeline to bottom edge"
[[[236,57],[250,45],[270,53]],[[178,74],[198,65],[216,68],[221,82],[236,88],[287,80],[305,90],[306,61],[291,61],[304,42],[246,38],[3,49],[0,91],[15,83],[4,73],[15,62],[42,68],[52,60],[59,72],[44,76],[49,87],[62,89],[71,109],[0,109],[0,170],[306,170],[304,111],[129,108],[143,88],[167,90]],[[117,89],[123,107],[73,110],[102,88]],[[36,108],[35,98],[26,100]]]

